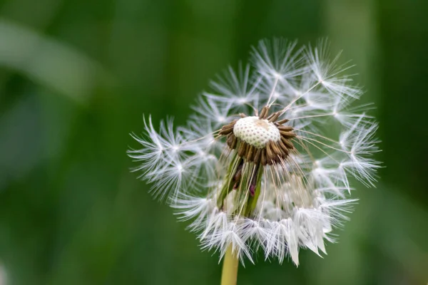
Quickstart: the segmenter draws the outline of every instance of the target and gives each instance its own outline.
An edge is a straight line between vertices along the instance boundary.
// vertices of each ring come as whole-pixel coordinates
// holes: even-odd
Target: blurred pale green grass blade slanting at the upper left
[[[79,102],[106,77],[100,64],[66,43],[5,19],[0,19],[0,66]]]

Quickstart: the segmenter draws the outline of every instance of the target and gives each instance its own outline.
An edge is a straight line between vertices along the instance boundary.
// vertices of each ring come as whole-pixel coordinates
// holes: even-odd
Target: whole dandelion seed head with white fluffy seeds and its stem
[[[187,125],[168,120],[157,132],[149,117],[143,137],[133,135],[143,145],[128,151],[135,170],[191,221],[203,249],[225,257],[223,284],[258,251],[296,266],[300,249],[326,254],[356,202],[350,177],[376,181],[372,105],[350,107],[362,92],[328,55],[326,41],[260,41],[252,66],[211,83]]]

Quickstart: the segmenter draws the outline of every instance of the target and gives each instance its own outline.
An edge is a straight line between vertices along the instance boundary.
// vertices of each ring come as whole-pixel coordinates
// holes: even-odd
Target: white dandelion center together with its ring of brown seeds
[[[296,135],[291,126],[283,125],[287,119],[277,120],[279,112],[268,113],[266,106],[258,117],[240,114],[241,118],[224,125],[219,135],[225,135],[230,149],[247,162],[263,166],[283,162],[294,149],[291,139]]]

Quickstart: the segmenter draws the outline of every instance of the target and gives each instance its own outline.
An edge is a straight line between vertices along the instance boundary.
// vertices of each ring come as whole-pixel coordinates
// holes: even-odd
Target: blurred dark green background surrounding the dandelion
[[[0,284],[219,284],[218,257],[129,172],[260,38],[327,36],[376,103],[384,162],[340,242],[238,284],[427,284],[426,0],[0,1]]]

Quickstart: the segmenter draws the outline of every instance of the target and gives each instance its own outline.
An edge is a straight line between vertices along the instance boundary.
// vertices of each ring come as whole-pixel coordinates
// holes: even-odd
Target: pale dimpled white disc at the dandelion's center
[[[280,130],[268,120],[257,116],[240,118],[233,128],[233,134],[249,145],[263,148],[267,142],[277,142],[281,139]]]

